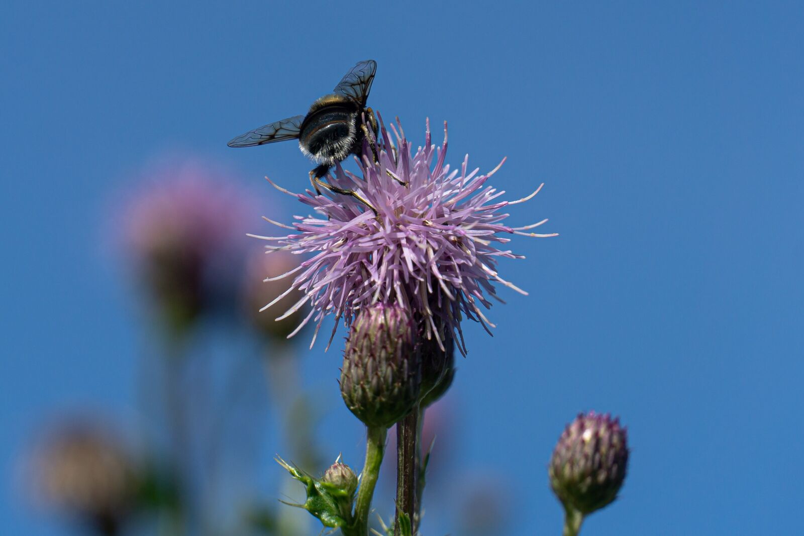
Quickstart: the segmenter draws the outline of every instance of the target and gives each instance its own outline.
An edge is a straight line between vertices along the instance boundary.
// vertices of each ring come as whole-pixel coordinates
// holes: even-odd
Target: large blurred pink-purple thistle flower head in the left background
[[[185,329],[236,290],[232,258],[242,258],[248,203],[231,179],[199,162],[167,166],[148,182],[126,214],[126,245],[165,320]]]

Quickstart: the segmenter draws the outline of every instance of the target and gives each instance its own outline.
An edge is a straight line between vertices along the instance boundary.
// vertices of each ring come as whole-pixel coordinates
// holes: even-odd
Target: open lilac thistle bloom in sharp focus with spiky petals
[[[458,349],[466,354],[461,319],[466,316],[479,321],[490,333],[494,325],[482,309],[490,308],[489,298],[499,300],[494,283],[527,294],[498,275],[498,257],[522,258],[503,249],[510,239],[501,234],[554,236],[528,231],[547,219],[526,227],[501,223],[508,216],[502,212],[505,207],[531,199],[541,186],[526,198],[498,201],[504,192],[486,182],[504,159],[487,174],[467,172],[468,155],[460,169],[450,170],[445,165],[446,123],[440,149],[431,144],[428,121],[425,145],[415,153],[401,125],[399,129],[392,125],[392,131],[394,140],[384,126],[381,129],[379,162],[374,162],[371,149],[364,144],[362,162],[358,161],[362,177],[340,165],[329,177],[330,184],[359,193],[371,207],[357,198],[330,192],[293,194],[271,182],[320,215],[295,216],[292,226],[267,219],[296,232],[278,237],[255,235],[276,243],[267,246],[269,250],[313,255],[298,268],[274,278],[295,274],[288,293],[299,289],[305,294],[277,320],[310,302],[312,310],[289,336],[314,321],[312,347],[327,315],[335,317],[331,342],[338,321],[343,319],[349,326],[369,305],[396,303],[420,317],[422,336],[436,338],[443,350],[444,338],[457,335]],[[263,309],[279,300],[281,297]]]

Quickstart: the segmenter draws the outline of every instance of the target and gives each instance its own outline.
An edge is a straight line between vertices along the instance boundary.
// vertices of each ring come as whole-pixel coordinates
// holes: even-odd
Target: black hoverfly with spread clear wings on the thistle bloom
[[[288,117],[254,129],[234,138],[227,145],[250,147],[298,138],[301,152],[318,163],[310,170],[310,184],[318,194],[321,193],[318,189],[321,186],[336,194],[351,195],[374,210],[359,194],[332,186],[322,181],[322,177],[350,154],[359,156],[363,150],[363,139],[369,141],[376,158],[374,140],[378,130],[377,121],[374,112],[366,106],[376,70],[377,62],[373,59],[361,61],[343,76],[332,93],[315,100],[306,115]],[[374,137],[368,132],[369,128]]]

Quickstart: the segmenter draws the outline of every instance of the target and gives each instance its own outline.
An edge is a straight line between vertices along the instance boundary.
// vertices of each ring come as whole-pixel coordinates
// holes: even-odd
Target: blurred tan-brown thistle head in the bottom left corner
[[[134,508],[137,465],[104,428],[78,422],[51,431],[33,463],[43,500],[101,534],[117,534]]]

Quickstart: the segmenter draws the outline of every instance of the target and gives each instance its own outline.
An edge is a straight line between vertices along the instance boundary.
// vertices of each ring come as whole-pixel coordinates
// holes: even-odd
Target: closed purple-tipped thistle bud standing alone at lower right
[[[565,509],[589,514],[609,505],[626,479],[628,434],[618,418],[579,414],[550,460],[550,485]]]

